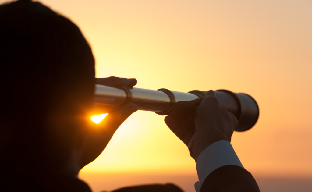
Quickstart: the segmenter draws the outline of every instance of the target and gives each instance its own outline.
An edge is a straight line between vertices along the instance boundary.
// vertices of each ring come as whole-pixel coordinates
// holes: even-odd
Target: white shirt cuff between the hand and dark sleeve
[[[202,183],[212,171],[225,165],[237,165],[244,168],[231,143],[224,140],[217,141],[203,150],[196,162],[196,171],[199,180],[195,183],[196,192],[199,192]]]

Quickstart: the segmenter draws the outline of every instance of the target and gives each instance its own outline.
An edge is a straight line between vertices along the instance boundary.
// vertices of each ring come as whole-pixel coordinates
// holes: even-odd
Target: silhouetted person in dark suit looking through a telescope
[[[95,78],[95,60],[79,28],[31,0],[0,6],[0,61],[0,190],[90,192],[79,171],[138,110],[127,104],[93,123],[92,113],[107,112],[93,105],[94,85],[132,87],[136,80]],[[197,161],[197,191],[259,191],[229,143],[237,120],[219,107],[213,91],[198,106],[195,123],[178,116],[165,122]],[[182,190],[167,184],[117,191]]]

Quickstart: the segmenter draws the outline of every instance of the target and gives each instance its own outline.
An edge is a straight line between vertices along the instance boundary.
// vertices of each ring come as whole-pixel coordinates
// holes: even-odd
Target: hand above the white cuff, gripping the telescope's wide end
[[[212,90],[205,94],[197,107],[194,121],[179,116],[165,117],[167,126],[188,146],[195,161],[212,143],[220,140],[231,142],[233,131],[238,125],[232,113],[220,108],[216,93]]]

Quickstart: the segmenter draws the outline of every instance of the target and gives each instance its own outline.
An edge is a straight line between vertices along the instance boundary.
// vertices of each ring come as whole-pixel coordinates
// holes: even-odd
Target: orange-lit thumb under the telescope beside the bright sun
[[[105,132],[110,134],[111,136],[114,135],[115,131],[118,127],[135,111],[138,111],[138,106],[133,103],[129,103],[123,106],[122,111],[116,111],[109,113],[104,121],[98,123],[101,129]]]

